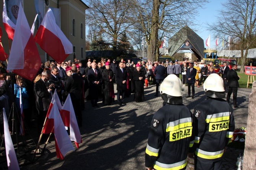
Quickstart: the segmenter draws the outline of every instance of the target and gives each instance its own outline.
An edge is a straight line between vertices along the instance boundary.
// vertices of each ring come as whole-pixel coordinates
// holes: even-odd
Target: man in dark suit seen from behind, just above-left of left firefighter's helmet
[[[162,83],[162,81],[165,78],[166,69],[165,66],[162,66],[162,61],[158,61],[158,66],[156,66],[156,69],[154,70],[154,74],[156,75],[156,95],[158,96],[159,92],[159,85]]]

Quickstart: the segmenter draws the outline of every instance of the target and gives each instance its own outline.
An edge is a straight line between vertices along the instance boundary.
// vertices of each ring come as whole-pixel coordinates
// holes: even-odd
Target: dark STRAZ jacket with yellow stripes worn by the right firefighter
[[[195,155],[214,160],[223,156],[235,130],[232,107],[224,99],[209,98],[198,104],[195,115]]]

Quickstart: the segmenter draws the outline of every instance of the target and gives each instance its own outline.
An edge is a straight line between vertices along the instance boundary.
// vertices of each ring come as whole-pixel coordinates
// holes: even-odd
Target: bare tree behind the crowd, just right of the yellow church
[[[125,0],[87,0],[90,8],[87,14],[88,26],[106,34],[106,40],[117,50],[120,35],[134,23],[130,10],[132,3]]]

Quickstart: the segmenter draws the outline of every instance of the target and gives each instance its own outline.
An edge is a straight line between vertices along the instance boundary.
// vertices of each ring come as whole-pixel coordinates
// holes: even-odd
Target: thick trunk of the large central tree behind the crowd
[[[153,0],[153,9],[152,9],[152,24],[151,24],[151,34],[149,38],[149,45],[147,47],[147,58],[150,61],[156,61],[157,47],[158,46],[158,22],[159,22],[159,7],[160,1]]]

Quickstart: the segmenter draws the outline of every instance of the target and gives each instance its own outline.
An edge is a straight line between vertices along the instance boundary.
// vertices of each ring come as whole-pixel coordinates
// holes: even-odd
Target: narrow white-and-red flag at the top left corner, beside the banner
[[[7,15],[5,0],[3,0],[3,26],[5,27],[8,38],[13,40],[14,30],[16,26]]]

